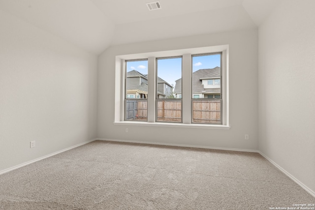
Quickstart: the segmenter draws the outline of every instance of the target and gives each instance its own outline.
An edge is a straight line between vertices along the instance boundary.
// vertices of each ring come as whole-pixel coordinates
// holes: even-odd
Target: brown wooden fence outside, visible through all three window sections
[[[158,120],[168,122],[182,121],[182,101],[180,100],[158,100]],[[127,100],[126,120],[147,120],[148,101]],[[220,100],[193,100],[192,122],[199,123],[221,123],[221,101]]]

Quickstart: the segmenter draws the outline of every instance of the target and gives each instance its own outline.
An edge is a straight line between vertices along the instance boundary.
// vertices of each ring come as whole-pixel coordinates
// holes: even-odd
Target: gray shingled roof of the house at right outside
[[[220,93],[220,88],[204,88],[202,85],[201,78],[220,78],[221,77],[221,68],[207,68],[199,69],[192,73],[192,91],[193,93]],[[182,78],[175,81],[174,93],[182,93]]]

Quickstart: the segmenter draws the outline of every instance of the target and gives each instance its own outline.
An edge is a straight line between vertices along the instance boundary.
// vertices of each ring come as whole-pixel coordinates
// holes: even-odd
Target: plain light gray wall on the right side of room
[[[315,1],[259,27],[259,150],[315,192]]]

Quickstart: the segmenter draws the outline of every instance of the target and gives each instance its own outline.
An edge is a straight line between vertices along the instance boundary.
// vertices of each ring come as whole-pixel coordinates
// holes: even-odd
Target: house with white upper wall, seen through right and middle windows
[[[221,68],[199,69],[192,73],[193,98],[220,98],[221,95]],[[182,98],[182,78],[175,81],[174,94]]]

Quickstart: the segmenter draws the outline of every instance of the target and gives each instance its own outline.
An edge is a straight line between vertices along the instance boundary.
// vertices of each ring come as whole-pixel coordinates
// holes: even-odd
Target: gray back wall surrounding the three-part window
[[[258,149],[257,30],[241,30],[113,46],[99,56],[99,138],[207,147]],[[229,130],[114,125],[115,56],[229,44]],[[242,97],[240,97],[242,93]],[[246,94],[244,94],[246,93]],[[141,134],[141,135],[139,135]],[[244,135],[249,134],[250,140]]]

